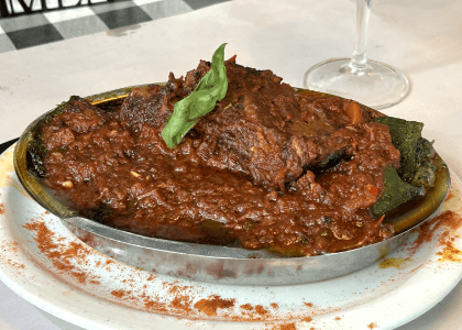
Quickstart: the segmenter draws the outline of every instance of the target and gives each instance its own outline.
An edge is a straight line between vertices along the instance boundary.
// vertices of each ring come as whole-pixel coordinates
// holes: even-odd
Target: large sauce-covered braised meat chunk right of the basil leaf
[[[245,173],[255,184],[284,191],[308,165],[350,145],[329,139],[351,123],[345,111],[350,103],[332,107],[344,111],[343,117],[329,116],[328,107],[317,108],[270,70],[229,62],[227,75],[227,97],[195,127],[204,139],[199,154],[207,164]]]

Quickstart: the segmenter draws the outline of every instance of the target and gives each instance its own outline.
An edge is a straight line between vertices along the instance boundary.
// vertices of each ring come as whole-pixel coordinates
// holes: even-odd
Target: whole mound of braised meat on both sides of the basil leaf
[[[370,121],[369,111],[356,102],[300,94],[271,70],[237,65],[234,57],[226,66],[226,98],[186,139],[196,140],[196,152],[207,165],[241,173],[267,189],[285,191],[310,165],[344,154],[352,141],[332,134]],[[201,61],[185,78],[170,74],[164,88],[134,90],[122,105],[120,120],[134,132],[148,123],[160,134],[175,102],[209,69],[210,63]]]

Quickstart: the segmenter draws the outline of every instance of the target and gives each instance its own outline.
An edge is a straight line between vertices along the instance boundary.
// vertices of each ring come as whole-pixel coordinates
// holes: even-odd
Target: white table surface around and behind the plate
[[[404,70],[408,97],[384,112],[425,122],[424,135],[462,176],[462,1],[373,1],[367,57]],[[70,95],[165,81],[210,59],[223,42],[227,57],[272,69],[301,86],[307,68],[350,56],[354,0],[234,0],[120,33],[98,33],[0,54],[0,143]],[[56,326],[0,283],[0,329]],[[399,330],[462,328],[462,285]],[[55,320],[57,323],[58,321]]]

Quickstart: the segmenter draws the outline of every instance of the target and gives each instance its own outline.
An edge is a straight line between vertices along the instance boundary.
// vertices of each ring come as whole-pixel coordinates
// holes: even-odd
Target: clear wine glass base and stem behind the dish
[[[409,91],[409,81],[387,64],[366,61],[366,37],[371,0],[358,0],[356,37],[351,58],[332,58],[311,67],[304,88],[353,99],[373,109],[396,105]]]

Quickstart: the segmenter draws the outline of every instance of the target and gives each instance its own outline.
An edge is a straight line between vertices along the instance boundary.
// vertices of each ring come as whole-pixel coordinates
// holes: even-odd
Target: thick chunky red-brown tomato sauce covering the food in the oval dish
[[[382,218],[373,218],[369,210],[384,193],[385,166],[399,166],[399,153],[388,129],[371,122],[367,110],[358,103],[293,91],[271,72],[245,74],[250,69],[233,62],[227,66],[227,98],[218,103],[215,114],[209,113],[173,150],[163,141],[162,128],[175,101],[190,92],[190,86],[207,72],[207,63],[185,79],[172,75],[167,87],[135,89],[111,111],[82,99],[69,102],[42,131],[47,150],[44,184],[85,217],[162,239],[268,249],[296,256],[342,251],[391,238],[393,228],[382,223]],[[272,79],[271,84],[267,79]],[[287,142],[277,144],[279,150],[263,150],[260,158],[253,154],[253,158],[241,162],[231,147],[239,144],[230,135],[231,129],[224,132],[217,127],[215,130],[222,135],[216,141],[207,136],[213,130],[212,123],[223,123],[223,118],[243,122],[241,128],[232,125],[243,136],[254,132],[244,122],[249,114],[233,118],[232,113],[223,113],[224,109],[252,107],[253,91],[245,87],[258,84],[271,85],[273,92],[277,88],[290,90],[289,97],[278,98],[278,107],[292,103],[295,110],[290,111],[301,111],[300,120],[308,122],[306,118],[316,117],[319,127],[310,130],[316,131],[312,136],[306,128],[298,133],[294,125],[287,129],[287,124],[265,123],[272,118],[258,109],[266,130],[262,132]],[[271,97],[264,95],[264,87],[257,90],[266,99]],[[138,117],[127,114],[133,109]],[[290,120],[287,116],[286,122]],[[254,117],[251,120],[254,127]],[[309,157],[301,156],[299,145],[310,150]],[[239,153],[245,155],[257,147],[261,145],[245,151],[241,147]],[[227,151],[229,155],[223,156]],[[338,157],[328,167],[319,166],[332,151]],[[274,155],[274,164],[280,166],[277,173],[284,174],[277,180],[273,180],[272,168],[257,167],[272,152],[280,152]],[[288,160],[301,165],[289,166]]]

